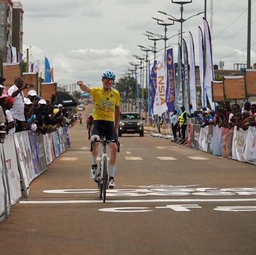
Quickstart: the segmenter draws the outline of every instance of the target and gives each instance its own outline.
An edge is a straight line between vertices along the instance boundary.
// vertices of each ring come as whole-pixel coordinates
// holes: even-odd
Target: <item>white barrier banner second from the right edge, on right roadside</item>
[[[233,143],[232,143],[232,158],[244,162],[244,147],[246,143],[248,130],[243,130],[237,127],[234,128]]]

